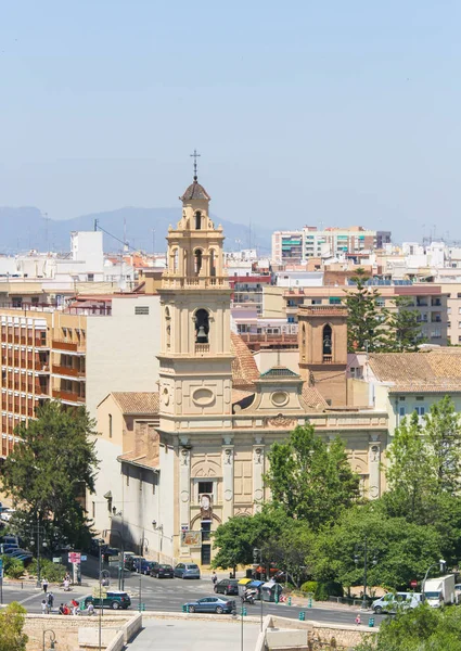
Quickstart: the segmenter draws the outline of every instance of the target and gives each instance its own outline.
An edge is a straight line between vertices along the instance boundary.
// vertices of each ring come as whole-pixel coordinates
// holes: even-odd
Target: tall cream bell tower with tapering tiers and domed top
[[[231,289],[223,271],[222,227],[215,228],[209,218],[210,196],[196,170],[180,201],[182,216],[168,229],[167,268],[158,290],[159,416],[162,430],[189,434],[194,419],[202,431],[206,418],[219,429],[216,417],[232,411]],[[228,419],[220,422],[229,425]]]

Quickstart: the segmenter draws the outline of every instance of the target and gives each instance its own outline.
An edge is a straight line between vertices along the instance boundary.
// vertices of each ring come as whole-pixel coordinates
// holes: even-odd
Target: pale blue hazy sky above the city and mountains
[[[459,222],[459,0],[0,0],[0,205]],[[423,225],[425,227],[423,228]]]

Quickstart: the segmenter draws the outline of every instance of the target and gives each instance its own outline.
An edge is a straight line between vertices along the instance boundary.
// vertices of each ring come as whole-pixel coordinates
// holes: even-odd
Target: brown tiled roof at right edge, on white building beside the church
[[[419,353],[373,353],[370,368],[390,393],[461,392],[461,352],[432,348]]]

